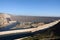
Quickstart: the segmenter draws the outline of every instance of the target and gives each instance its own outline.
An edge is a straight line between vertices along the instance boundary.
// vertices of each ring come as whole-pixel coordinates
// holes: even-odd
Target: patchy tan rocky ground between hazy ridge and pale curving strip
[[[23,23],[17,24],[16,27],[14,27],[12,29],[35,28],[35,27],[42,26],[42,25],[45,25],[45,24],[44,23],[23,22]]]

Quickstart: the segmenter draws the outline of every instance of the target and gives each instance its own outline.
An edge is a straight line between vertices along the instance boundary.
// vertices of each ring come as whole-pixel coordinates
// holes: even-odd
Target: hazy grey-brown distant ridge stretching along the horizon
[[[5,14],[5,13],[0,13]],[[17,15],[11,15],[11,20],[16,20],[18,22],[45,22],[50,23],[55,20],[59,20],[60,17],[44,17],[44,16],[17,16]]]

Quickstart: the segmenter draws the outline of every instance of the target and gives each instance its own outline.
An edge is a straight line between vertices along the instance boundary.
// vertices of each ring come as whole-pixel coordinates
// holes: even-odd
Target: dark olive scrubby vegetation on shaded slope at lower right
[[[49,29],[45,31],[44,33],[29,36],[22,40],[51,40],[51,39],[59,39],[59,38],[60,36],[55,35],[54,32]]]

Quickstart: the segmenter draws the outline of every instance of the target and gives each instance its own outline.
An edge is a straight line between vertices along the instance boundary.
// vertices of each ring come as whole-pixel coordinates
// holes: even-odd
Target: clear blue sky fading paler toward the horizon
[[[60,17],[60,0],[0,0],[0,13]]]

